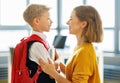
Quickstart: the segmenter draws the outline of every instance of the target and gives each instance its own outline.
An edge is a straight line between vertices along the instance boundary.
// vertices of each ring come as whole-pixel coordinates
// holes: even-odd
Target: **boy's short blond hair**
[[[40,17],[44,12],[48,11],[49,8],[45,5],[30,4],[23,13],[23,18],[28,24],[32,24],[32,21],[36,17]]]

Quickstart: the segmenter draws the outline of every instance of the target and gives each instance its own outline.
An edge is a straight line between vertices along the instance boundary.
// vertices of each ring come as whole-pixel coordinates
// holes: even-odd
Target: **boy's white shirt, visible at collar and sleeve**
[[[33,31],[32,34],[36,34],[41,37],[47,44],[46,35],[40,32]],[[29,49],[29,59],[39,64],[39,59],[43,59],[48,62],[48,58],[50,58],[49,52],[46,50],[44,45],[40,42],[34,42]]]

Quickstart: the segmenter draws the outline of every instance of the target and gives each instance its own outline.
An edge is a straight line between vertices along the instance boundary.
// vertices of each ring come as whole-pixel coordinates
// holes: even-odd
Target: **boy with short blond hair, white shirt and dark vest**
[[[52,20],[50,19],[49,8],[40,4],[29,5],[23,13],[24,20],[32,28],[32,34],[41,37],[46,43],[46,36],[43,32],[49,32]],[[47,43],[48,44],[48,43]],[[39,59],[48,62],[50,55],[45,49],[44,45],[40,42],[34,42],[28,51],[27,66],[31,70],[30,77],[33,77],[37,71]],[[58,56],[56,57],[56,59]],[[48,74],[40,73],[37,83],[55,83],[55,80]]]

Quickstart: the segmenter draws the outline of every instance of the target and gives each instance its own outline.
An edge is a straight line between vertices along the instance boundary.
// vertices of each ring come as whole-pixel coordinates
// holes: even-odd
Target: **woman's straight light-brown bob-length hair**
[[[92,6],[78,6],[74,8],[80,21],[86,21],[87,26],[83,29],[82,37],[85,42],[101,42],[103,39],[102,21],[97,10]]]

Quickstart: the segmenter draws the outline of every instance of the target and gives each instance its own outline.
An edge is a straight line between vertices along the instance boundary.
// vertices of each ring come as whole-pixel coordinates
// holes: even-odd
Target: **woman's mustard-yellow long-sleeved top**
[[[66,78],[72,83],[100,83],[94,46],[91,43],[76,46],[65,72]]]

